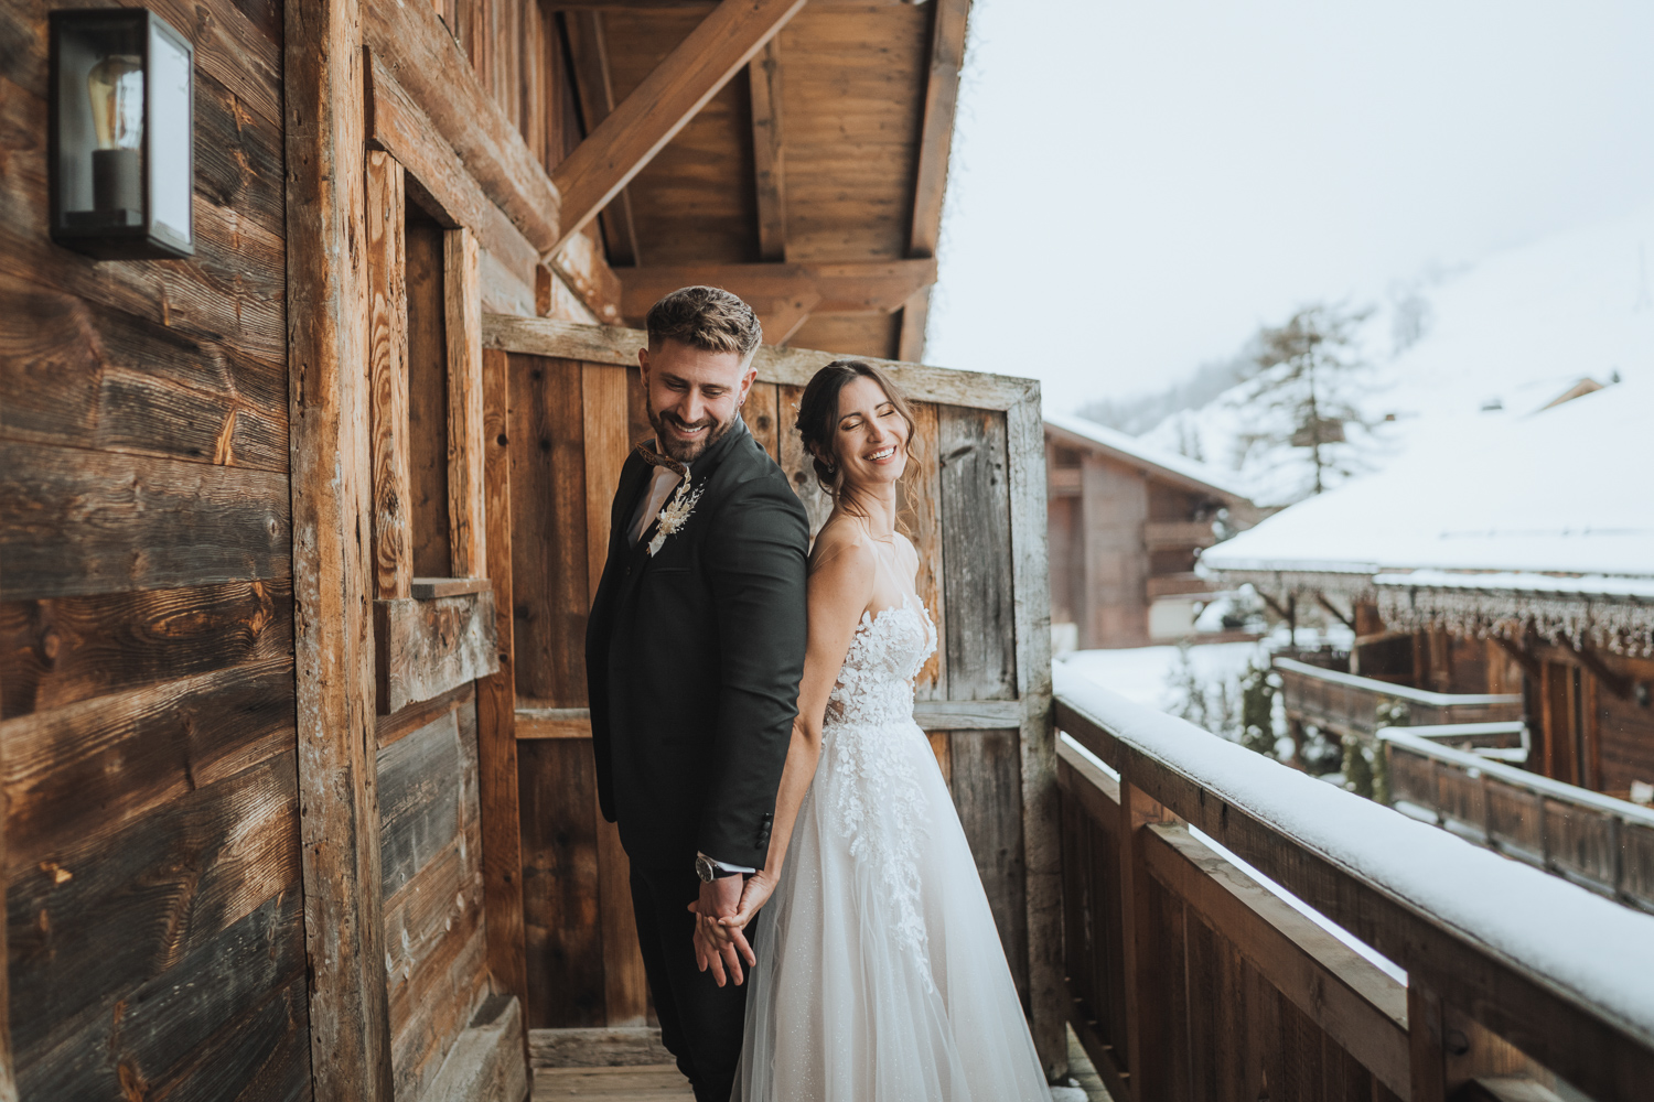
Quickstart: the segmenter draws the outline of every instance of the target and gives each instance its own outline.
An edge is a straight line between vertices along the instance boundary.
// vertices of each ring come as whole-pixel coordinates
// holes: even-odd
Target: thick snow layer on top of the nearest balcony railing
[[[1060,664],[1052,674],[1064,707],[1202,798],[1226,801],[1654,1047],[1654,917],[1135,704]],[[1379,950],[1411,970],[1404,953]]]

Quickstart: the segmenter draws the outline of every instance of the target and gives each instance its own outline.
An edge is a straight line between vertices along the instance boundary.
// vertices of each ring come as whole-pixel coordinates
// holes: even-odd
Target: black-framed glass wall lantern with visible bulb
[[[51,240],[195,254],[195,48],[142,8],[51,13]]]

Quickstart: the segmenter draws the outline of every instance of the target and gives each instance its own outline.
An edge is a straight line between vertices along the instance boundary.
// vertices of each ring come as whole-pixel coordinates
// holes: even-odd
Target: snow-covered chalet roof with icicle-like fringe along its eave
[[[1654,653],[1654,385],[1421,443],[1207,549],[1231,580],[1361,591],[1384,623]]]

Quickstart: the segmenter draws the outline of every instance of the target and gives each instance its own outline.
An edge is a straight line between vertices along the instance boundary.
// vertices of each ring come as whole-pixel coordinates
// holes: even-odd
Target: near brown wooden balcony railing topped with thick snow
[[[1649,1097],[1654,917],[1054,672],[1070,1021],[1116,1099]]]

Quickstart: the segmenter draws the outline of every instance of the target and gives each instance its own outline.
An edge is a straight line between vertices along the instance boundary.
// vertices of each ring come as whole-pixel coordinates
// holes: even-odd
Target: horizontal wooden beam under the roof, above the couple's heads
[[[935,259],[855,261],[845,264],[681,264],[615,273],[624,292],[620,312],[643,317],[662,296],[705,283],[746,299],[764,322],[766,344],[797,312],[888,314],[920,287],[936,283]],[[787,334],[791,335],[791,334]]]

